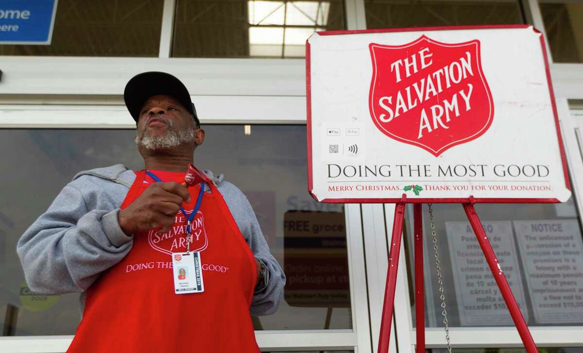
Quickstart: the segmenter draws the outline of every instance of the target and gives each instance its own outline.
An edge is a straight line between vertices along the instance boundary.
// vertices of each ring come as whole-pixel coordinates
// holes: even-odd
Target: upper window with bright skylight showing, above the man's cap
[[[172,56],[301,58],[314,31],[345,29],[342,0],[178,0]]]

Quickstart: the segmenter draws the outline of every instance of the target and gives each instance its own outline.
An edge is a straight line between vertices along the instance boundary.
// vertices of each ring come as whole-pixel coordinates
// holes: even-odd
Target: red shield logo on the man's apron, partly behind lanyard
[[[191,215],[191,211],[186,214]],[[167,233],[156,233],[154,230],[148,232],[148,242],[157,251],[172,255],[173,252],[187,251],[187,221],[182,212],[176,214],[177,222]],[[190,251],[203,251],[208,246],[208,236],[205,230],[205,216],[201,211],[196,212],[196,216],[191,223],[192,243]]]

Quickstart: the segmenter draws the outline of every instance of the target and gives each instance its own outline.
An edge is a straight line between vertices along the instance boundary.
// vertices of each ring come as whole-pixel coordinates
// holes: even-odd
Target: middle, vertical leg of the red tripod
[[[425,353],[425,288],[423,287],[423,218],[422,204],[413,205],[415,220],[415,327],[417,353]]]

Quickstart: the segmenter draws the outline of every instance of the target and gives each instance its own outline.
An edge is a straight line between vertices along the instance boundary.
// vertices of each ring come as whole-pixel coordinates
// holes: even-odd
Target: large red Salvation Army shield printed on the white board
[[[369,48],[369,108],[382,133],[438,156],[488,130],[494,104],[479,41],[445,44],[423,35],[409,44]]]

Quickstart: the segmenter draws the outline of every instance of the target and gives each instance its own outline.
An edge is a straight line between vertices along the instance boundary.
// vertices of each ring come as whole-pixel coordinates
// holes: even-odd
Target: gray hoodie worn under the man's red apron
[[[268,284],[254,294],[253,315],[274,313],[283,297],[285,274],[269,252],[251,204],[236,186],[203,170],[229,206],[255,258],[268,268]],[[16,251],[30,289],[39,294],[85,291],[128,254],[134,237],[120,228],[117,213],[135,180],[118,164],[78,173],[20,238]],[[209,189],[207,187],[207,189]],[[207,190],[208,191],[208,190]]]

